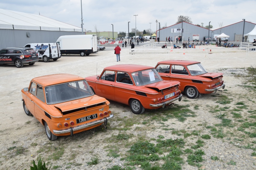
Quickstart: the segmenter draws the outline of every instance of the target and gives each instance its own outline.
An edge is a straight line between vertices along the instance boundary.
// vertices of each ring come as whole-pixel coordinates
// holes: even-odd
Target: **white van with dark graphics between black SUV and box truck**
[[[58,43],[30,43],[24,47],[33,48],[38,53],[39,59],[44,62],[56,61],[61,57]]]

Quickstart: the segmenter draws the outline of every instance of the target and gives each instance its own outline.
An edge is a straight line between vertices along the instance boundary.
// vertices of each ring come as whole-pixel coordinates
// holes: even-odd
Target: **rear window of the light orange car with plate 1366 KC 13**
[[[94,95],[94,93],[86,81],[75,81],[45,87],[47,104],[56,104],[92,95]]]

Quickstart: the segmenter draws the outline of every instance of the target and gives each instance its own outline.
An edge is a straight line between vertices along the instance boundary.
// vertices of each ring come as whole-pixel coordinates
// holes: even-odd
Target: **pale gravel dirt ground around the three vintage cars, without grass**
[[[243,87],[245,81],[243,77],[236,77],[236,75],[247,75],[246,69],[244,68],[256,64],[255,51],[249,51],[249,58],[246,58],[245,50],[208,46],[208,50],[211,49],[212,54],[208,54],[208,59],[206,59],[206,46],[200,46],[200,48],[196,46],[196,49],[172,49],[173,51],[169,55],[132,55],[132,59],[129,59],[130,46],[128,44],[127,48],[121,48],[121,61],[117,63],[116,55],[114,54],[115,46],[116,45],[106,45],[104,51],[99,51],[97,54],[89,56],[63,55],[57,61],[50,60],[48,63],[39,61],[33,66],[24,65],[24,67],[20,69],[16,68],[14,65],[0,65],[0,99],[2,101],[0,103],[0,115],[2,117],[0,122],[0,150],[2,151],[0,153],[0,169],[29,169],[29,165],[32,165],[31,160],[36,160],[37,156],[42,157],[46,162],[50,162],[52,167],[55,166],[55,169],[107,169],[114,165],[125,165],[125,161],[120,160],[120,157],[110,157],[106,151],[108,145],[115,145],[109,143],[108,139],[112,135],[119,133],[119,130],[113,128],[119,125],[116,119],[110,120],[109,130],[95,128],[79,133],[75,135],[75,137],[58,137],[56,141],[52,142],[48,140],[44,126],[39,124],[35,117],[30,117],[25,114],[21,101],[21,89],[28,87],[30,80],[38,76],[70,73],[87,77],[100,74],[103,68],[115,64],[155,66],[157,62],[166,59],[200,61],[207,71],[224,73],[223,80],[226,85],[225,89],[228,90],[226,95],[231,95],[233,99],[231,104],[228,104],[229,107],[234,107],[235,103],[244,101],[250,110],[255,110],[255,94],[248,93],[248,90]],[[137,45],[135,45],[135,47],[136,46]],[[156,48],[161,47],[157,45]],[[241,98],[241,94],[244,94],[243,98]],[[212,100],[211,96],[211,94],[200,95],[194,100],[190,100],[184,96],[181,102],[175,102],[175,105],[176,103],[179,106],[191,105],[189,108],[195,111],[197,116],[188,117],[185,122],[170,119],[164,122],[165,125],[168,126],[168,128],[184,129],[190,127],[190,130],[197,130],[201,128],[198,126],[200,123],[213,126],[220,122],[220,119],[215,118],[216,114],[209,113],[209,110],[205,107],[218,105],[215,100]],[[248,99],[250,99],[251,102],[248,101]],[[199,110],[194,110],[195,105],[199,106]],[[126,117],[136,119],[136,116],[138,117],[138,115],[132,114],[129,106],[110,101],[110,107],[114,113],[114,117],[117,116],[121,119]],[[171,110],[172,107],[168,109]],[[148,110],[146,110],[144,114],[139,115],[140,119],[143,120],[145,118],[146,120],[148,113]],[[175,124],[173,124],[173,122]],[[159,135],[163,135],[166,139],[179,137],[161,128],[158,129],[157,127],[160,125],[159,122],[152,122],[150,128],[138,131],[135,130],[136,127],[142,129],[145,129],[145,127],[143,124],[136,124],[126,133],[133,133],[135,136],[145,135],[148,139],[157,138]],[[202,134],[209,133],[209,129],[201,130]],[[192,138],[187,140],[188,144],[195,141],[195,139]],[[250,142],[249,140],[252,141],[253,139],[248,139],[248,142]],[[251,156],[253,151],[251,149],[237,147],[236,145],[239,145],[239,143],[240,142],[230,144],[227,140],[212,137],[203,147],[205,160],[201,164],[205,169],[256,169],[256,157]],[[246,142],[243,144],[247,145]],[[21,150],[20,152],[19,148]],[[64,154],[59,159],[51,158],[52,154],[55,152],[54,148],[57,148],[55,150],[56,152],[58,148],[63,149]],[[119,154],[121,157],[126,154],[128,149],[127,147],[120,148]],[[95,155],[99,156],[101,160],[100,163],[95,166],[89,166],[86,162],[90,161]],[[210,159],[212,155],[218,156],[221,161],[212,161]],[[184,158],[184,160],[186,161],[186,158]],[[229,160],[235,160],[236,166],[227,164]],[[138,166],[135,167],[136,169],[140,169]],[[188,163],[182,165],[182,168],[197,169],[196,166],[190,166]]]

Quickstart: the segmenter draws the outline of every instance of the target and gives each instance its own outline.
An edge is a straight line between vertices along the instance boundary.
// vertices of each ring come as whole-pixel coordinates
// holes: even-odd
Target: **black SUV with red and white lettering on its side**
[[[21,68],[24,64],[34,65],[39,61],[38,55],[33,48],[17,47],[0,50],[0,64],[15,64]]]

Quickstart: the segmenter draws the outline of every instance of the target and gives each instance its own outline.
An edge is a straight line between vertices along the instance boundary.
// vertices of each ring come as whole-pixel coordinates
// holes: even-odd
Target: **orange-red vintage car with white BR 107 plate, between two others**
[[[178,81],[163,80],[154,67],[120,64],[106,67],[98,76],[85,78],[93,92],[129,105],[134,114],[165,107],[181,100]]]

